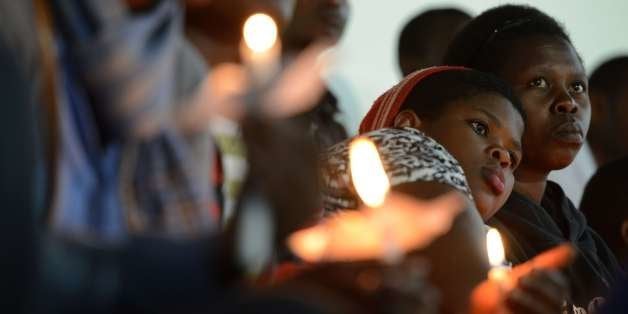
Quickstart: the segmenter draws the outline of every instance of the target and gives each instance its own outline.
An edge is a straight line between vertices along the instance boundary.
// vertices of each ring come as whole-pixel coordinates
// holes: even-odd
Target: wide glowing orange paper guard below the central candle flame
[[[423,202],[391,193],[382,205],[385,211],[364,208],[334,214],[290,235],[288,247],[311,263],[372,259],[394,263],[446,233],[463,203],[457,194]]]

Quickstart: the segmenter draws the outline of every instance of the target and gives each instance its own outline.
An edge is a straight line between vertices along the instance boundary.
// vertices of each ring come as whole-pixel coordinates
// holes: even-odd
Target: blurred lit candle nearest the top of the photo
[[[240,54],[255,88],[265,87],[279,69],[281,42],[277,24],[267,14],[247,18],[242,30]]]

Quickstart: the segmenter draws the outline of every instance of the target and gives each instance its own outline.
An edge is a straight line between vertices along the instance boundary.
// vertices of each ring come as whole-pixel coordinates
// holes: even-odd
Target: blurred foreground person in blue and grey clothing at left
[[[206,276],[193,266],[205,262],[202,254],[194,254],[204,249],[186,240],[201,241],[215,229],[207,210],[209,169],[203,164],[210,150],[192,151],[208,146],[207,139],[179,132],[170,120],[170,112],[198,87],[202,67],[183,40],[180,3],[143,1],[141,9],[136,3],[0,2],[0,41],[6,42],[20,73],[14,83],[19,84],[20,75],[26,82],[33,104],[27,108],[37,124],[38,158],[30,162],[30,153],[23,152],[21,160],[31,163],[35,191],[32,210],[20,215],[30,215],[42,236],[38,268],[31,272],[37,276],[32,312],[109,313],[119,293],[132,295],[128,288],[142,277],[155,280],[137,289],[146,295],[167,286],[169,275],[188,270],[193,276],[181,278],[197,281],[180,285],[178,296],[196,295],[192,291],[206,284]],[[20,121],[24,119],[16,113],[15,123]],[[27,143],[9,147],[18,152],[28,149]],[[21,173],[30,180],[28,171]],[[24,184],[14,182],[16,187]],[[20,191],[12,197],[29,193]],[[20,219],[16,217],[16,227]],[[23,232],[28,230],[24,226]],[[166,240],[172,238],[178,241]],[[123,280],[130,269],[128,252],[135,254],[134,262],[153,268],[138,267],[146,272],[129,272],[135,277]],[[189,258],[171,263],[156,258],[159,254]],[[159,306],[177,298],[150,302]]]

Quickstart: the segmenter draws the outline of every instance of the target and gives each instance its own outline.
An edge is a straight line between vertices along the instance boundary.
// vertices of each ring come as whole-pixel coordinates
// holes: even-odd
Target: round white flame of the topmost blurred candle
[[[254,52],[262,53],[275,45],[277,24],[270,16],[256,13],[246,20],[242,33],[247,47]]]

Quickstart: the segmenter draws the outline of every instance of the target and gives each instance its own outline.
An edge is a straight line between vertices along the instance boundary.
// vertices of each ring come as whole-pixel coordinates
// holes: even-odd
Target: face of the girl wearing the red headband
[[[482,218],[493,216],[512,192],[521,161],[524,123],[510,101],[495,93],[456,100],[419,128],[458,160]]]

